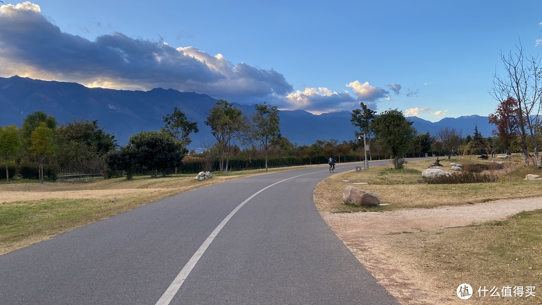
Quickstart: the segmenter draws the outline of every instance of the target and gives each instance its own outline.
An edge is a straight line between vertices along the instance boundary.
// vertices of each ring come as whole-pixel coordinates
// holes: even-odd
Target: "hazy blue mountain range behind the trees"
[[[156,88],[150,91],[87,88],[81,84],[41,81],[19,76],[0,77],[0,125],[16,124],[34,112],[52,115],[60,124],[74,120],[98,120],[100,127],[115,135],[120,145],[127,143],[131,135],[139,131],[159,130],[164,126],[163,117],[177,107],[191,121],[198,123],[199,132],[192,134],[192,149],[212,144],[215,138],[205,125],[208,110],[217,100],[205,94],[180,92]],[[229,101],[232,102],[232,101]],[[236,104],[246,115],[254,111],[253,105]],[[292,143],[312,144],[317,140],[356,140],[356,128],[350,122],[351,112],[331,112],[313,115],[304,110],[281,110],[282,135]],[[407,117],[418,132],[435,135],[443,128],[455,128],[463,136],[474,133],[475,125],[482,136],[491,136],[494,125],[487,117],[472,115],[443,118],[438,122]]]

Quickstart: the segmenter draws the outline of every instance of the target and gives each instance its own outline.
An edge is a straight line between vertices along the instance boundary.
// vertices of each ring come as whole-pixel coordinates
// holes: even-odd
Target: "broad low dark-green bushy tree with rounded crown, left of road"
[[[137,162],[152,170],[153,177],[158,175],[158,170],[165,176],[166,169],[176,167],[188,153],[179,141],[164,132],[141,131],[132,135],[128,143]]]

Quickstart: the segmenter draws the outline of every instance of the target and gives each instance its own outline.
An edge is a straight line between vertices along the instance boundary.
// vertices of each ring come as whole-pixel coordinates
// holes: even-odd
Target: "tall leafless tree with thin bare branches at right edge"
[[[521,135],[522,151],[525,155],[525,165],[529,165],[527,136],[531,136],[537,165],[540,166],[537,145],[537,129],[539,124],[540,100],[542,98],[542,74],[538,57],[524,56],[521,45],[516,46],[517,53],[509,52],[501,55],[505,75],[496,72],[493,77],[493,89],[490,94],[500,102],[513,98],[518,103],[519,134]]]

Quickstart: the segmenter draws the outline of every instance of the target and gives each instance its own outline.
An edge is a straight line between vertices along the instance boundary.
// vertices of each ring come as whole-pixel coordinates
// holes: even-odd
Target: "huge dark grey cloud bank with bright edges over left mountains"
[[[113,89],[173,88],[237,102],[272,100],[293,91],[273,69],[232,64],[197,48],[173,48],[119,32],[95,41],[67,34],[30,2],[0,7],[0,74]]]

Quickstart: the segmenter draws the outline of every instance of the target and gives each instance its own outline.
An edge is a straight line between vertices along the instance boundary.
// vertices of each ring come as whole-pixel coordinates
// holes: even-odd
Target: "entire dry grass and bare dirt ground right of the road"
[[[317,186],[314,198],[335,234],[402,304],[542,304],[540,210],[468,226],[482,217],[519,213],[527,202],[530,209],[542,208],[539,198],[492,201],[542,197],[539,181],[522,181],[526,174],[540,174],[540,170],[521,168],[522,162],[517,160],[499,161],[505,162],[505,168],[491,174],[503,177],[503,182],[421,184],[421,171],[430,163],[422,161],[400,171],[386,169],[391,167],[386,165],[331,176]],[[465,162],[488,161],[452,159],[441,164],[446,170],[449,163]],[[343,180],[369,182],[354,186],[378,194],[390,205],[358,208],[343,204],[343,190],[352,185]],[[383,213],[355,213],[361,211]],[[473,286],[472,299],[457,298],[455,288],[461,283]],[[480,286],[535,286],[538,292],[537,297],[523,299],[483,298],[478,297]]]

